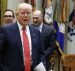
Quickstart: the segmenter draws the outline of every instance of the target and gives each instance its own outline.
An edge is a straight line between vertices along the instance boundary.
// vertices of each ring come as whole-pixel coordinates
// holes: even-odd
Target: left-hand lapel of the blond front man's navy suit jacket
[[[14,24],[12,31],[14,34],[14,40],[16,41],[16,45],[19,48],[21,56],[23,57],[22,42],[21,42],[21,37],[20,37],[19,28],[18,28],[17,23]]]

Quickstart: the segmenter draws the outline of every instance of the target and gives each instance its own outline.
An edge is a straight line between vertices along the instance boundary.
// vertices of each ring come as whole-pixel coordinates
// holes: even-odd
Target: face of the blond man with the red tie
[[[20,22],[22,26],[26,26],[29,24],[31,11],[29,9],[19,9],[18,13],[16,14],[17,20]]]

